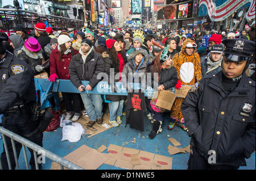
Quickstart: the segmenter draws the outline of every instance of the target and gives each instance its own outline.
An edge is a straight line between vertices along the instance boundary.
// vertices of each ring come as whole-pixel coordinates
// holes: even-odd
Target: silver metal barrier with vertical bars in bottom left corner
[[[20,170],[19,168],[19,163],[18,163],[18,155],[16,154],[16,148],[15,148],[15,141],[18,141],[20,144],[22,144],[22,149],[23,149],[23,154],[24,154],[24,161],[26,163],[26,169],[29,170],[29,166],[28,166],[28,158],[27,158],[27,151],[26,151],[26,147],[30,148],[34,151],[34,159],[35,159],[35,163],[36,163],[36,170],[39,169],[39,164],[38,164],[38,154],[36,153],[44,153],[44,157],[51,159],[52,161],[59,163],[60,164],[60,169],[63,170],[64,167],[69,169],[69,170],[84,170],[81,167],[75,165],[72,162],[67,161],[67,159],[61,158],[58,155],[52,153],[51,151],[48,151],[44,148],[42,148],[39,145],[36,145],[34,142],[31,142],[29,140],[27,140],[26,138],[23,138],[22,136],[19,136],[18,134],[15,134],[3,127],[0,127],[0,133],[2,134],[2,138],[3,138],[3,146],[5,148],[6,151],[6,157],[7,157],[7,162],[8,162],[8,166],[9,166],[9,170],[13,169],[11,168],[11,164],[10,164],[10,156],[9,156],[9,151],[7,149],[7,144],[6,144],[6,136],[11,138],[11,145],[13,146],[13,150],[14,150],[14,158],[15,158],[15,163],[16,163],[16,169]],[[2,170],[2,163],[0,160],[0,169]]]

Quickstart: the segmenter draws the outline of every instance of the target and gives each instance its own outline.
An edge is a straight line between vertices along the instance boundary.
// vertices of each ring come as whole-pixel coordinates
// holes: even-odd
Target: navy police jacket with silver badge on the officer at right
[[[191,145],[216,165],[245,166],[255,151],[255,82],[245,73],[228,94],[222,86],[222,71],[208,75],[188,92],[181,105]]]

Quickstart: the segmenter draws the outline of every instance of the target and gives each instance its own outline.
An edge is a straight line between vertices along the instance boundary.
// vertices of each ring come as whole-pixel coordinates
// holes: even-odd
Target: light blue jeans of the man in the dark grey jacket
[[[80,94],[87,115],[91,121],[96,121],[103,116],[102,98],[100,94]]]

